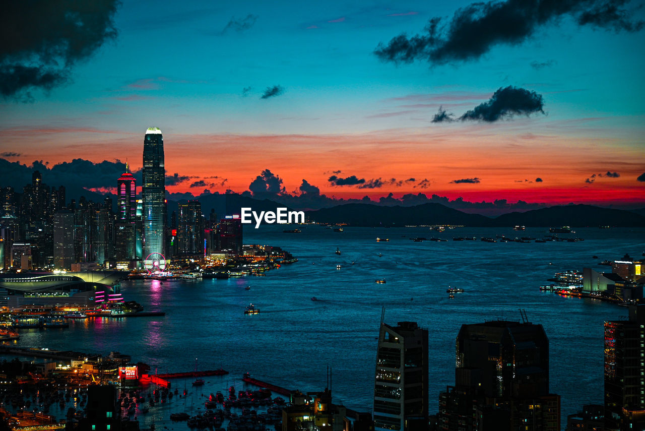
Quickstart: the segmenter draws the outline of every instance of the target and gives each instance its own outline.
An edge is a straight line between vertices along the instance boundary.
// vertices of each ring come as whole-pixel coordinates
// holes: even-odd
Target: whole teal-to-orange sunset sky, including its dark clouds
[[[645,8],[550,3],[104,0],[55,42],[14,5],[0,157],[137,171],[158,126],[170,192],[645,206]]]

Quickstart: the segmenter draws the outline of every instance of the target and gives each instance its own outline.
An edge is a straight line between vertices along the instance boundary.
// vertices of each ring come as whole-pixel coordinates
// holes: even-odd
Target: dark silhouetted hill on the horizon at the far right
[[[497,217],[493,223],[495,226],[645,226],[645,217],[599,206],[566,205],[511,212]]]

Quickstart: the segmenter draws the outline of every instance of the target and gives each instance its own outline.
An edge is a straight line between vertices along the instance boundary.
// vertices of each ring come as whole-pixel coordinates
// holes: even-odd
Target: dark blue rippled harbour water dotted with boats
[[[429,330],[433,414],[439,392],[455,382],[455,337],[461,325],[521,321],[523,309],[550,339],[550,390],[562,397],[563,422],[584,404],[602,403],[603,321],[622,319],[627,309],[560,297],[539,286],[557,271],[585,266],[608,271],[598,263],[626,253],[641,257],[645,229],[581,228],[574,236],[585,241],[573,243],[486,243],[479,237],[541,238],[548,230],[349,226],[333,232],[324,226],[297,227],[303,232],[284,233],[292,227],[275,225],[244,230],[244,243],[281,246],[297,263],[264,277],[124,281],[126,300],[166,316],[92,318],[71,321],[67,329],[20,330],[19,345],[103,355],[117,350],[159,374],[192,371],[195,358],[198,370],[230,372],[208,377],[197,391],[203,394],[224,392],[230,385],[243,388],[244,372],[303,392],[323,390],[330,366],[334,402],[371,411],[384,307],[386,323],[416,321]],[[477,241],[452,241],[453,236],[475,236]],[[389,241],[377,242],[377,237]],[[448,241],[415,242],[413,237]],[[341,254],[335,254],[337,248]],[[377,279],[386,283],[375,283]],[[465,292],[451,299],[449,286]],[[261,312],[244,314],[250,303]],[[186,381],[172,384],[183,387]],[[186,408],[186,399],[183,403]],[[192,408],[195,400],[190,403]],[[171,412],[170,407],[150,409],[144,423],[169,423]]]

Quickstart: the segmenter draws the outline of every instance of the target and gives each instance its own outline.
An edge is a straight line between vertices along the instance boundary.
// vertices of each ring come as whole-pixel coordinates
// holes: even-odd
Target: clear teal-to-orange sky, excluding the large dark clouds
[[[48,91],[30,88],[30,103],[2,101],[3,151],[20,154],[23,162],[139,161],[143,132],[155,125],[173,157],[169,171],[224,175],[224,188],[240,192],[260,170],[271,168],[288,190],[305,177],[326,192],[363,194],[330,184],[332,170],[366,178],[428,178],[444,193],[457,190],[451,183],[457,177],[486,175],[477,190],[467,192],[488,196],[506,190],[502,197],[526,199],[502,168],[515,164],[513,175],[523,179],[528,163],[540,170],[528,169],[527,175],[550,174],[553,190],[582,188],[585,177],[605,170],[621,174],[609,188],[620,185],[625,196],[635,187],[642,190],[635,177],[645,170],[644,31],[579,25],[574,14],[562,14],[521,41],[493,43],[466,61],[395,64],[375,55],[379,43],[422,34],[432,17],[449,23],[470,4],[123,1],[114,15],[117,37],[75,63],[70,81]],[[642,3],[628,6],[633,22],[645,20]],[[282,92],[261,98],[273,86]],[[439,106],[459,117],[506,86],[541,95],[544,114],[495,123],[432,123]],[[30,132],[36,139],[25,143]],[[236,143],[219,145],[227,136]],[[321,154],[330,137],[343,143],[342,157]],[[369,141],[378,145],[368,148]],[[519,141],[522,154],[495,163],[491,155],[509,154],[508,146]],[[276,146],[297,152],[310,168],[295,166]],[[221,163],[203,163],[206,147]],[[479,158],[468,160],[464,152]],[[433,153],[451,160],[450,166],[437,164]],[[426,155],[422,161],[420,154]],[[573,163],[554,164],[559,154]],[[384,158],[391,170],[382,170]],[[241,163],[231,168],[233,160]],[[577,167],[555,174],[561,165]],[[386,189],[371,192],[412,191]],[[539,190],[539,199],[546,195]]]

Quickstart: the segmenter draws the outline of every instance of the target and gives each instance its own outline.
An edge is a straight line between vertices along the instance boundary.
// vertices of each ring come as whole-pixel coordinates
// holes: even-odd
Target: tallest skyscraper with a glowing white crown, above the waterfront
[[[148,270],[166,268],[164,257],[166,187],[163,136],[149,127],[143,139],[143,265]]]

